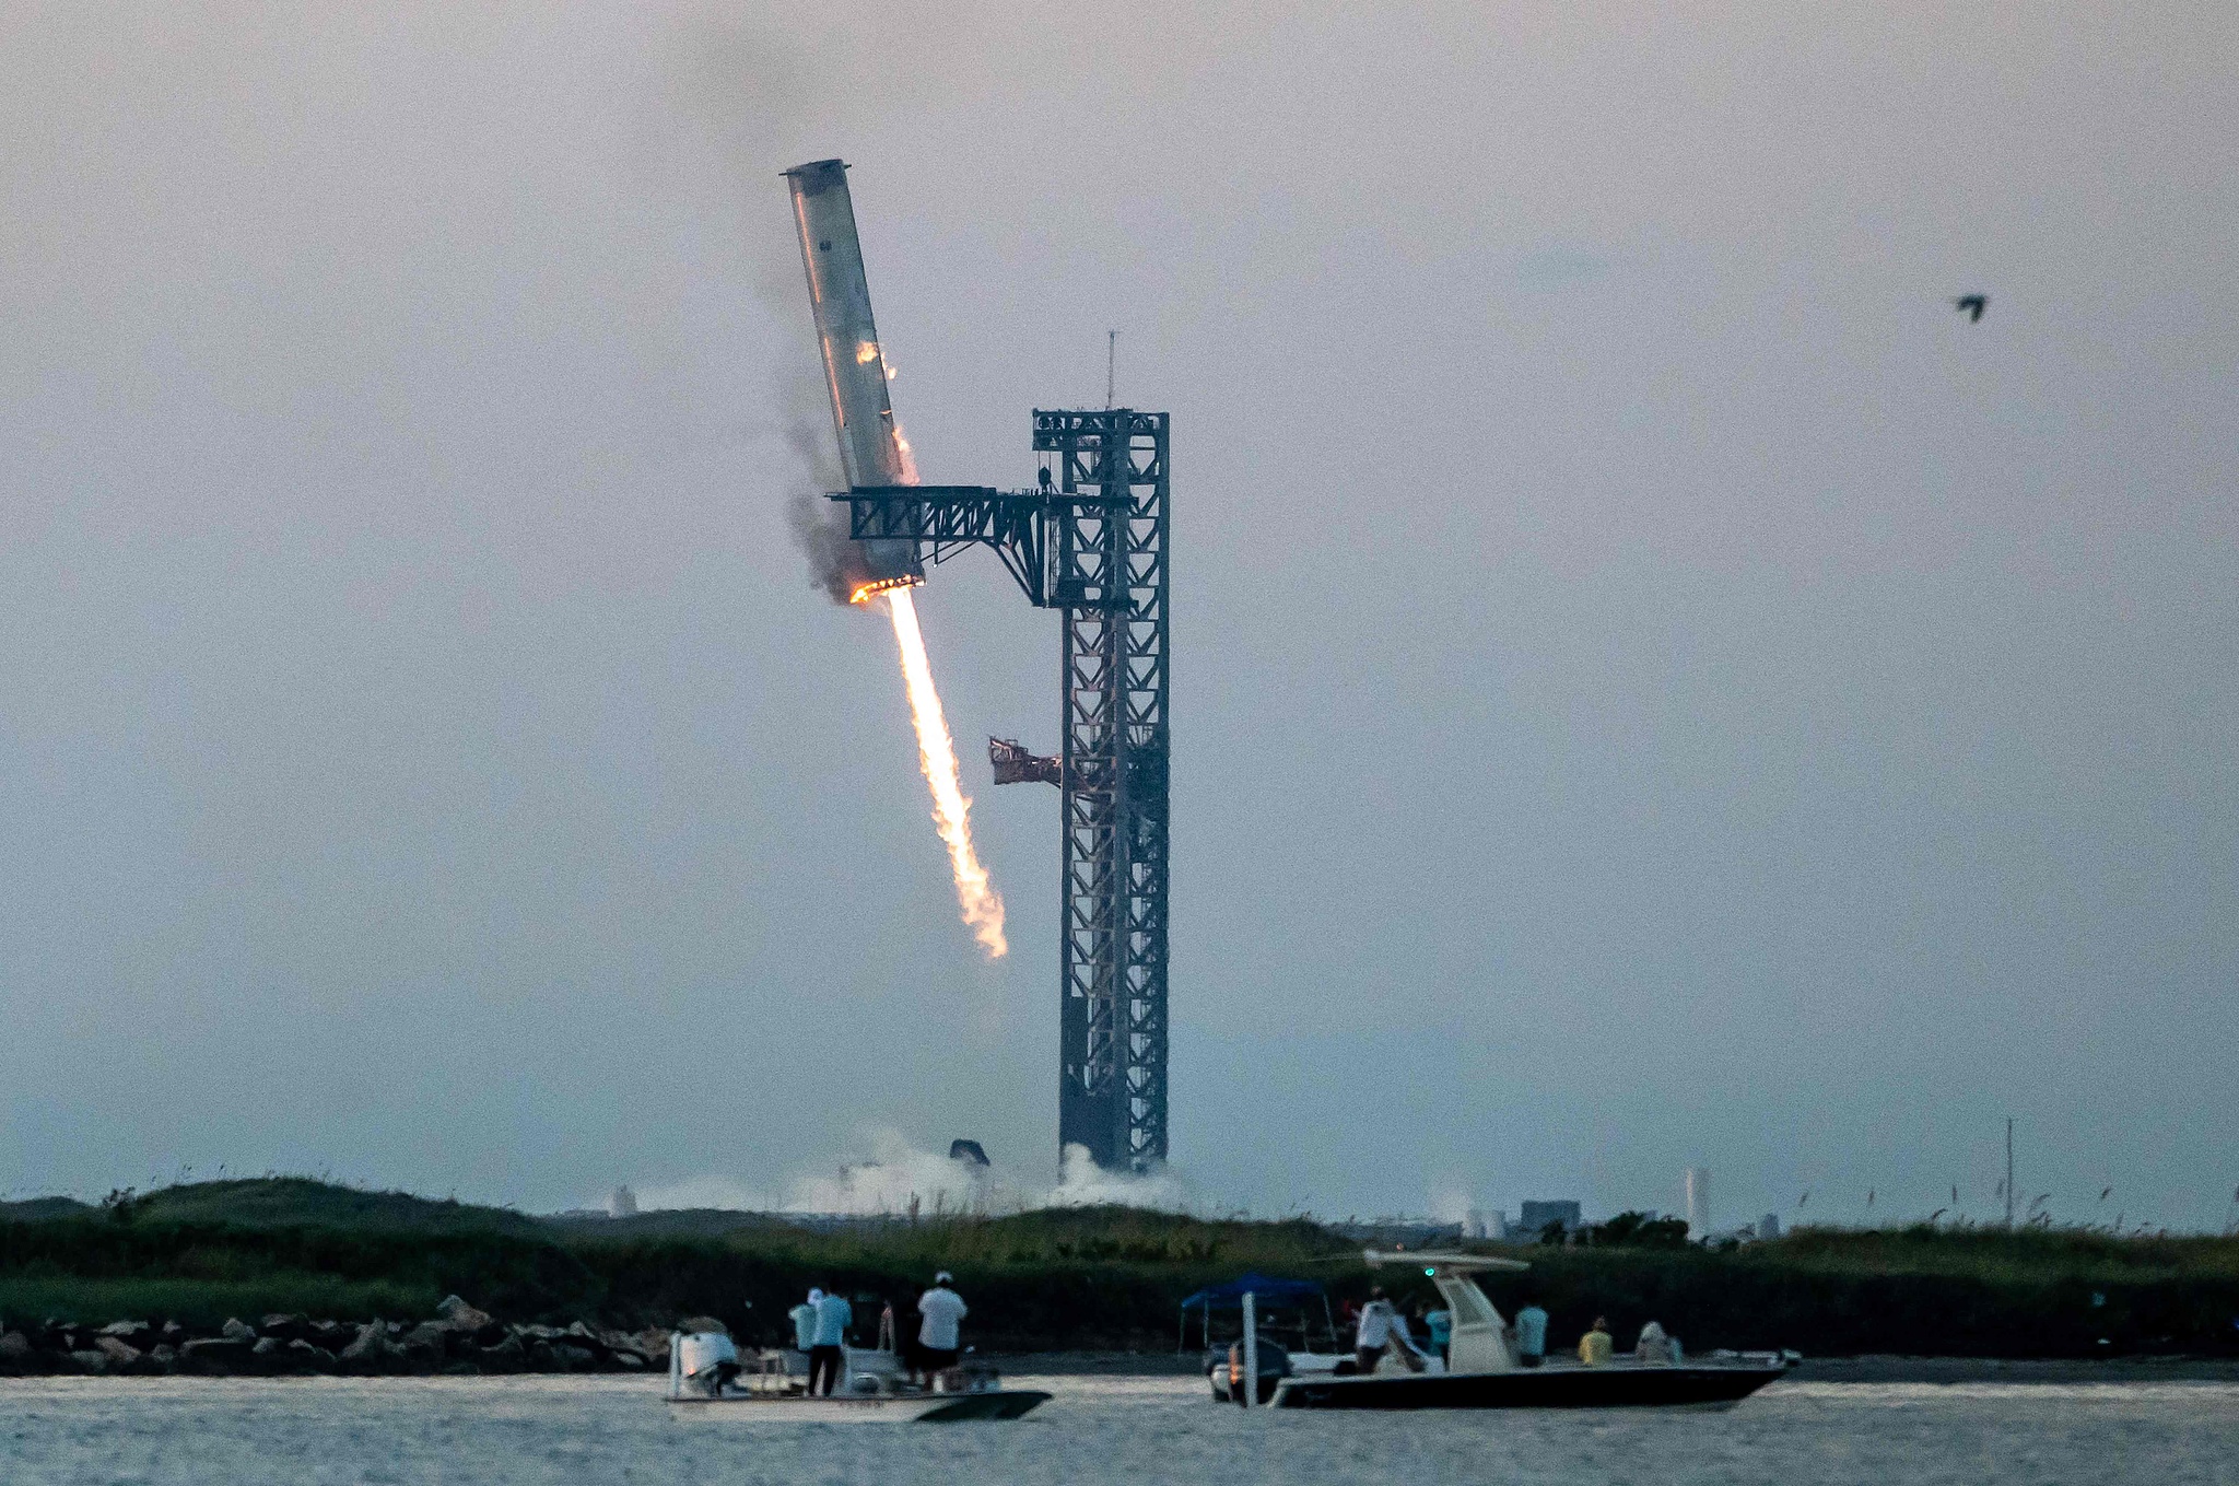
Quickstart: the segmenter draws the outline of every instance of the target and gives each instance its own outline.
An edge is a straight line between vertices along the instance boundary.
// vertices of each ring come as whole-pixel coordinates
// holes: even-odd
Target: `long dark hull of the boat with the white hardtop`
[[[1518,1367],[1283,1379],[1274,1408],[1733,1408],[1784,1367]]]

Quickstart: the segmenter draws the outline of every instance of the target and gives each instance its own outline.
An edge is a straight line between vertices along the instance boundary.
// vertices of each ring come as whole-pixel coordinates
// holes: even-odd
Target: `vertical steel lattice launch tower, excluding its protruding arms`
[[[1144,1170],[1167,1159],[1167,414],[1037,410],[1034,450],[1064,609],[1057,1139]]]

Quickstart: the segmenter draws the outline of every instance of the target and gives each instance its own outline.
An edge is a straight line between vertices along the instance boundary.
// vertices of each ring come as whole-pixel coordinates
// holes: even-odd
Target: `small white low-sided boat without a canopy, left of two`
[[[759,1423],[965,1423],[1019,1419],[1050,1401],[1030,1388],[1003,1388],[994,1367],[967,1363],[916,1388],[893,1352],[844,1347],[840,1388],[811,1394],[784,1352],[741,1361],[721,1332],[669,1336],[669,1414]]]

